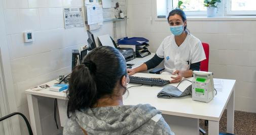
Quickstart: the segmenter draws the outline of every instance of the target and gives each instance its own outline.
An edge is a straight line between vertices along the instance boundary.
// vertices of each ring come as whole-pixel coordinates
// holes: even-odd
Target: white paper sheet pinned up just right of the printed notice
[[[103,22],[102,8],[96,5],[87,6],[87,22],[88,25]]]

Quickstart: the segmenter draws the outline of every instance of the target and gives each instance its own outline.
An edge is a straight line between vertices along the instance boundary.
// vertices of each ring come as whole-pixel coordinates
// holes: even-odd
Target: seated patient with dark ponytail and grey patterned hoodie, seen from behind
[[[155,107],[123,105],[128,83],[126,61],[117,49],[91,51],[72,70],[63,134],[174,134]]]

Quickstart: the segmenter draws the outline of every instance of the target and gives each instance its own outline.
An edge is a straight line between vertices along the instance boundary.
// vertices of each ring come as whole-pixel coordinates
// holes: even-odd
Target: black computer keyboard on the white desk
[[[161,78],[145,78],[145,77],[136,77],[136,76],[129,76],[131,83],[138,83],[138,84],[147,84],[147,85],[157,85],[163,86],[170,83],[169,80],[163,80]]]

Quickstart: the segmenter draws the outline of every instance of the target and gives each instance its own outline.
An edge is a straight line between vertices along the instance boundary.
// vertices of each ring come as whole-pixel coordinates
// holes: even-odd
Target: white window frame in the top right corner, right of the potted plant
[[[254,16],[256,15],[256,10],[250,10],[250,11],[231,11],[231,1],[232,0],[226,0],[226,15],[254,15]]]

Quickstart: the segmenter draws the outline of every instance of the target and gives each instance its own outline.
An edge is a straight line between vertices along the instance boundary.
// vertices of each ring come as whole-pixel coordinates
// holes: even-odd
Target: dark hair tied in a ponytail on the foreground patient
[[[112,95],[124,75],[127,76],[126,61],[117,49],[98,47],[92,50],[83,64],[72,70],[67,90],[67,116],[93,107],[105,95]]]

